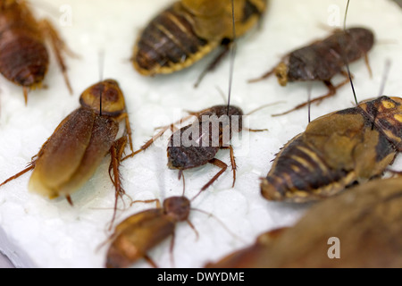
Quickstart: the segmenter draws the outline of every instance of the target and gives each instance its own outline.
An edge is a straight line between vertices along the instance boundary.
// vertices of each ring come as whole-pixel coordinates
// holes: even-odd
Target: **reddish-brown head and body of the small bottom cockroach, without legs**
[[[174,233],[176,223],[187,220],[188,198],[172,197],[163,201],[163,208],[133,214],[119,223],[107,251],[106,267],[125,268]]]

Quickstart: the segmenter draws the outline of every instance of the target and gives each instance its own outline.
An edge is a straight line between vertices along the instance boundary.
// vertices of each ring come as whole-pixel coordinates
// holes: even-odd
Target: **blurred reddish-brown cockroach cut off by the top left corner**
[[[62,52],[68,52],[68,49],[56,29],[47,20],[37,21],[25,1],[0,1],[0,72],[7,80],[23,88],[26,103],[28,91],[40,88],[46,76],[49,64],[46,38],[51,41],[72,94],[62,56]]]

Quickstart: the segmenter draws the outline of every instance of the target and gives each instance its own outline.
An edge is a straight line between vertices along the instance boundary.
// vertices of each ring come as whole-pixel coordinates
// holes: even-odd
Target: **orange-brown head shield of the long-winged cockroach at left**
[[[87,88],[80,97],[80,105],[97,114],[119,116],[125,112],[124,97],[116,80],[103,80]]]

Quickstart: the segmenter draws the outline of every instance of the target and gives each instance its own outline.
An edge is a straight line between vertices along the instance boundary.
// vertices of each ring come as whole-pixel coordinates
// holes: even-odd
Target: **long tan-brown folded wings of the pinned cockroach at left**
[[[80,108],[69,115],[40,150],[29,190],[57,198],[80,189],[112,147],[118,124]]]

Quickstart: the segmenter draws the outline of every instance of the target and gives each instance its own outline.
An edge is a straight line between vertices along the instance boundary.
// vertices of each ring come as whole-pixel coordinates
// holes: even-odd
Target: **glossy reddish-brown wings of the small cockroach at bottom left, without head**
[[[162,208],[131,215],[116,227],[106,267],[125,268],[145,257],[151,248],[173,234],[174,225]]]

